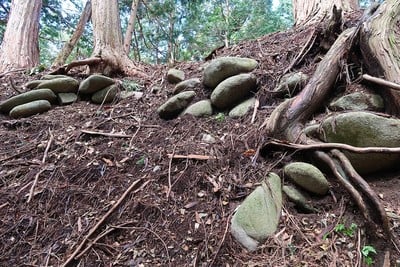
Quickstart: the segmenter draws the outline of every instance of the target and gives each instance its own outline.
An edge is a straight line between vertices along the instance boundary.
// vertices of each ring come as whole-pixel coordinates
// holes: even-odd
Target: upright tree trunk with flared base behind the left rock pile
[[[101,64],[89,65],[90,72],[106,75],[123,72],[129,76],[145,77],[146,75],[138,71],[138,68],[124,51],[118,2],[115,0],[93,0],[92,23],[93,56],[100,58]]]

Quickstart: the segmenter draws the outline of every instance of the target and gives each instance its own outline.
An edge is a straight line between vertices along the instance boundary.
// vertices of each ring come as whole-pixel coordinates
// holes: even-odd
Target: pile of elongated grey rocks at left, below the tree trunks
[[[29,117],[48,111],[57,102],[72,104],[78,94],[96,104],[110,103],[118,94],[115,81],[103,75],[91,75],[82,82],[66,75],[44,75],[24,86],[29,91],[1,102],[0,112],[12,118]]]

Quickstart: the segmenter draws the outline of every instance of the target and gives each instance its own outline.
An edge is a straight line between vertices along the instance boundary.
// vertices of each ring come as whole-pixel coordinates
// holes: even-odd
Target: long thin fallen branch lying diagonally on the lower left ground
[[[69,256],[69,258],[62,264],[63,267],[68,266],[74,259],[77,259],[77,255],[80,252],[80,250],[83,248],[83,246],[88,242],[89,238],[97,231],[98,228],[104,223],[105,220],[121,205],[121,203],[125,200],[125,198],[128,196],[128,194],[136,187],[136,185],[141,182],[142,179],[138,179],[134,181],[128,189],[122,194],[122,196],[118,199],[118,201],[112,206],[112,208],[104,214],[104,216],[96,223],[95,226],[90,229],[89,233],[83,238],[81,243],[78,245],[78,247],[75,249],[75,251]],[[142,190],[150,181],[146,181],[140,188],[135,190],[135,193]],[[93,243],[89,244],[89,246],[92,246]]]

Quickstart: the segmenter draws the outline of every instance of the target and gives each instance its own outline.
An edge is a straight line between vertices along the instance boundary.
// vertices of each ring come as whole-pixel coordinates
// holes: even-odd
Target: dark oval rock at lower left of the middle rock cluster
[[[173,119],[189,106],[195,96],[196,92],[194,91],[185,91],[174,95],[157,109],[157,113],[164,120]]]

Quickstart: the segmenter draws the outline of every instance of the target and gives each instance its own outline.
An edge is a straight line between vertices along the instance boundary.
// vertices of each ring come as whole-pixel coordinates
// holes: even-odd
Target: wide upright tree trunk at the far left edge
[[[14,0],[0,51],[0,72],[39,64],[39,15],[42,0]]]

